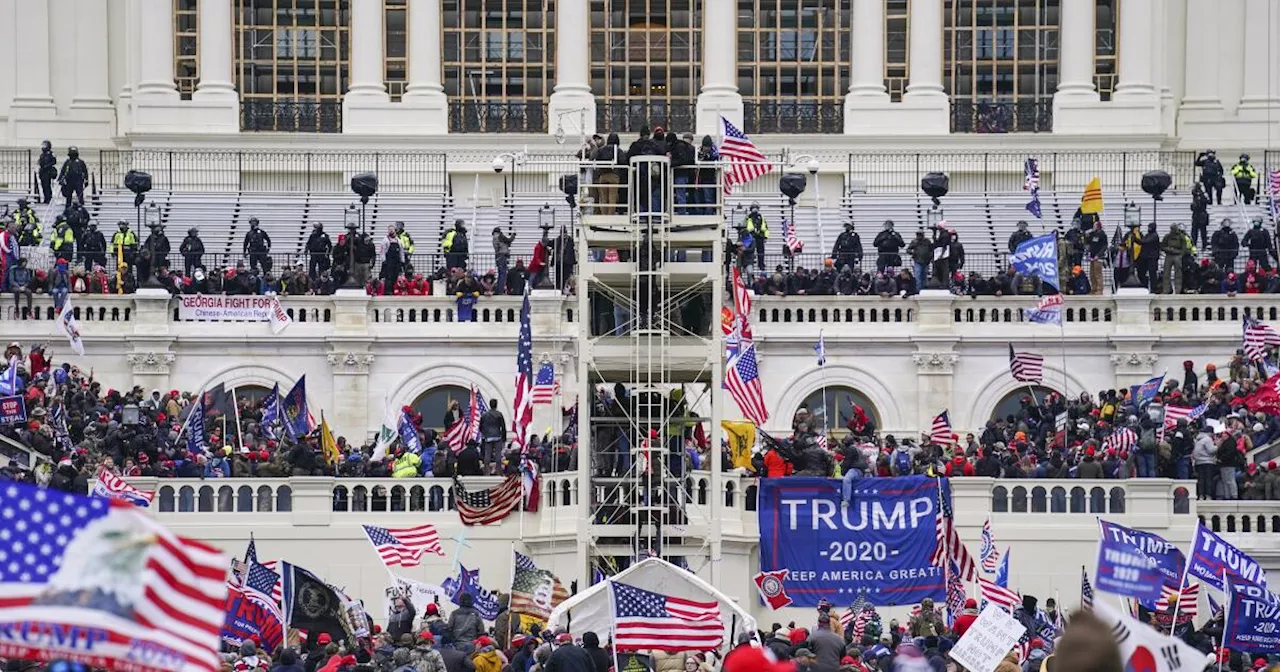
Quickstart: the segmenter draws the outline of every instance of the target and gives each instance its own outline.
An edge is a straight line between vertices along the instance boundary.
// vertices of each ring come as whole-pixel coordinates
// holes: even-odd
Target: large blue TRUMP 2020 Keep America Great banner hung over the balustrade
[[[864,593],[878,607],[942,599],[933,567],[938,479],[860,479],[842,502],[836,479],[760,480],[760,571],[787,570],[792,607]]]

